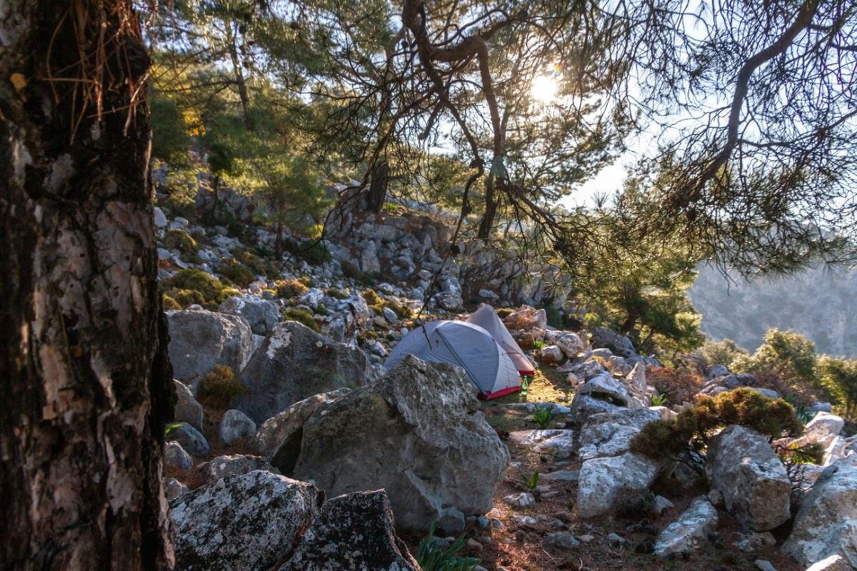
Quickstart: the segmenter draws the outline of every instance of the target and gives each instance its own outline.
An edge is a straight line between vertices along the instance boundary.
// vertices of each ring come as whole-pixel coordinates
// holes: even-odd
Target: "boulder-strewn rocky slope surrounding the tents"
[[[825,403],[800,439],[824,448],[812,489],[794,494],[767,440],[741,426],[712,439],[699,479],[631,452],[633,437],[696,394],[776,392],[715,366],[688,401],[651,406],[656,360],[606,328],[548,324],[533,307],[542,283],[520,286],[512,260],[463,241],[444,265],[440,216],[345,217],[332,258],[307,246],[281,263],[264,229],[242,240],[156,214],[178,569],[416,569],[433,523],[435,544],[464,534],[460,555],[485,569],[857,564],[857,440]],[[512,300],[524,305],[506,326],[539,365],[526,396],[477,401],[456,367],[381,365],[417,318]],[[552,311],[579,311],[560,301]]]

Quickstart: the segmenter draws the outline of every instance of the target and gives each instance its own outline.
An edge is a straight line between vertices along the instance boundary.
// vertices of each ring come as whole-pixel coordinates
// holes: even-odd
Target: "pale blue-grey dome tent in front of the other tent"
[[[451,363],[464,368],[486,399],[521,390],[518,370],[488,331],[464,321],[431,321],[412,330],[393,349],[384,364],[392,369],[405,355]]]

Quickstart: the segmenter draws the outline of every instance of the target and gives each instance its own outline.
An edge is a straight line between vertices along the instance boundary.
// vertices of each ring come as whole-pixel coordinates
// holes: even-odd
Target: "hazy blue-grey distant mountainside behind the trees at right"
[[[857,356],[857,271],[814,268],[795,277],[728,283],[706,266],[690,298],[710,338],[728,337],[753,351],[770,327],[794,329],[819,353]]]

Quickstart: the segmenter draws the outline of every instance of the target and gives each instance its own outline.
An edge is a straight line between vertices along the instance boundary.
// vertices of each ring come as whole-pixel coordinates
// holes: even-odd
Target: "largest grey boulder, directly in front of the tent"
[[[295,476],[329,495],[384,488],[404,529],[426,530],[450,507],[482,515],[509,453],[474,392],[463,369],[408,355],[309,417]]]

